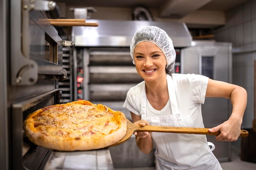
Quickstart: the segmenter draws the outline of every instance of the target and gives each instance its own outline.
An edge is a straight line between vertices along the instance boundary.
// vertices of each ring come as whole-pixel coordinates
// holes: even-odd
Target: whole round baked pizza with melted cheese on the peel
[[[24,121],[30,141],[61,151],[105,148],[121,140],[126,130],[124,113],[87,100],[47,106]]]

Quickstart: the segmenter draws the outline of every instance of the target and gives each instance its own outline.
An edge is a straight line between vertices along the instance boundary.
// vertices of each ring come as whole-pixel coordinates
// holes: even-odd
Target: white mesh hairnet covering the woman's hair
[[[159,49],[162,50],[167,60],[167,72],[170,73],[174,68],[176,58],[176,52],[173,47],[173,41],[164,30],[160,29],[157,26],[147,26],[135,32],[135,34],[132,37],[132,42],[130,44],[130,54],[132,57],[132,63],[135,64],[133,57],[135,47],[140,42],[144,41],[152,42],[155,45],[157,45]]]

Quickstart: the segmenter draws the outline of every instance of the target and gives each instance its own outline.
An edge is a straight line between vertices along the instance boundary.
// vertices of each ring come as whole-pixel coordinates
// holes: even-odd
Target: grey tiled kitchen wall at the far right
[[[215,31],[216,41],[231,42],[233,83],[243,86],[248,103],[243,128],[252,128],[254,118],[254,60],[256,60],[256,0],[249,0],[226,12],[226,25]],[[240,147],[240,139],[232,143]]]

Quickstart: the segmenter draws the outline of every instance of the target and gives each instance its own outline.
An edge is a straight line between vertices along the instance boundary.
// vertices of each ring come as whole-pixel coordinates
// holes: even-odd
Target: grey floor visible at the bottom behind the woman
[[[239,150],[232,150],[231,161],[221,162],[220,165],[223,170],[256,170],[256,163],[241,161]],[[115,170],[155,170],[154,167],[145,168],[116,168]]]

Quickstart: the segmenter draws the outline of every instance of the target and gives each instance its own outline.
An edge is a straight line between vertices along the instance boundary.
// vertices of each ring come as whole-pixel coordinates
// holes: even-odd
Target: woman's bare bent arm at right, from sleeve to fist
[[[232,113],[229,119],[222,124],[209,129],[209,132],[218,132],[218,141],[236,141],[241,132],[243,115],[247,105],[247,92],[243,87],[226,82],[209,79],[206,97],[224,97],[231,100]]]

